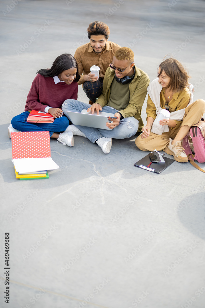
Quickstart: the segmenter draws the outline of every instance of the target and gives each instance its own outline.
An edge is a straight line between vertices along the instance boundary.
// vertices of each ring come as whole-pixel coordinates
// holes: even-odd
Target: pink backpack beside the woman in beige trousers
[[[191,152],[190,144],[189,144],[189,136],[191,136],[193,147],[194,147],[194,154]],[[205,163],[205,121],[202,118],[199,123],[191,126],[189,133],[187,136],[183,138],[183,148],[185,153],[187,154],[190,163],[195,166],[197,169],[205,172],[201,169],[197,164],[193,162],[193,160],[197,160],[198,163]]]

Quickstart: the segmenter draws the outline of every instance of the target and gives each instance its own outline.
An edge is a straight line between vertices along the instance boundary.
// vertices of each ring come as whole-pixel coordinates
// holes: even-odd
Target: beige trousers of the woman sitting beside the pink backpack
[[[142,138],[142,135],[140,135],[136,138],[135,144],[137,148],[142,151],[153,151],[155,149],[157,151],[165,150],[169,144],[169,138],[173,140],[181,126],[188,125],[191,127],[192,125],[197,124],[203,117],[204,113],[205,101],[203,99],[197,99],[194,103],[185,108],[182,124],[177,129],[169,129],[169,132],[162,133],[162,135],[157,135],[151,132],[147,138]]]

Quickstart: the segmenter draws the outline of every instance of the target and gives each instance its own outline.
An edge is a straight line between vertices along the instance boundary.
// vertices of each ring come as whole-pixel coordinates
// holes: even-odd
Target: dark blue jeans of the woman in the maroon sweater
[[[24,111],[20,115],[14,116],[11,125],[20,132],[49,132],[50,137],[53,132],[64,132],[69,126],[69,120],[63,115],[56,118],[53,123],[27,123],[29,111]]]

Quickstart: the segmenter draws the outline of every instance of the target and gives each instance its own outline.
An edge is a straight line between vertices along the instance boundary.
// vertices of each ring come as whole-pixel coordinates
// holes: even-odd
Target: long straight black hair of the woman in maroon
[[[54,77],[61,74],[63,71],[69,70],[69,68],[75,67],[77,69],[75,82],[81,78],[78,73],[78,65],[76,59],[71,54],[62,54],[58,56],[50,69],[41,68],[41,70],[37,71],[38,74],[44,77]],[[37,74],[36,73],[36,74]]]

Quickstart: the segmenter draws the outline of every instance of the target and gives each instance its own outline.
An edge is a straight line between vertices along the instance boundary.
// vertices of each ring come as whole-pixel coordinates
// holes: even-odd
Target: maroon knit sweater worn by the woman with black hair
[[[25,111],[44,111],[46,106],[61,108],[65,99],[77,99],[78,84],[54,83],[53,77],[37,74],[26,99]]]

